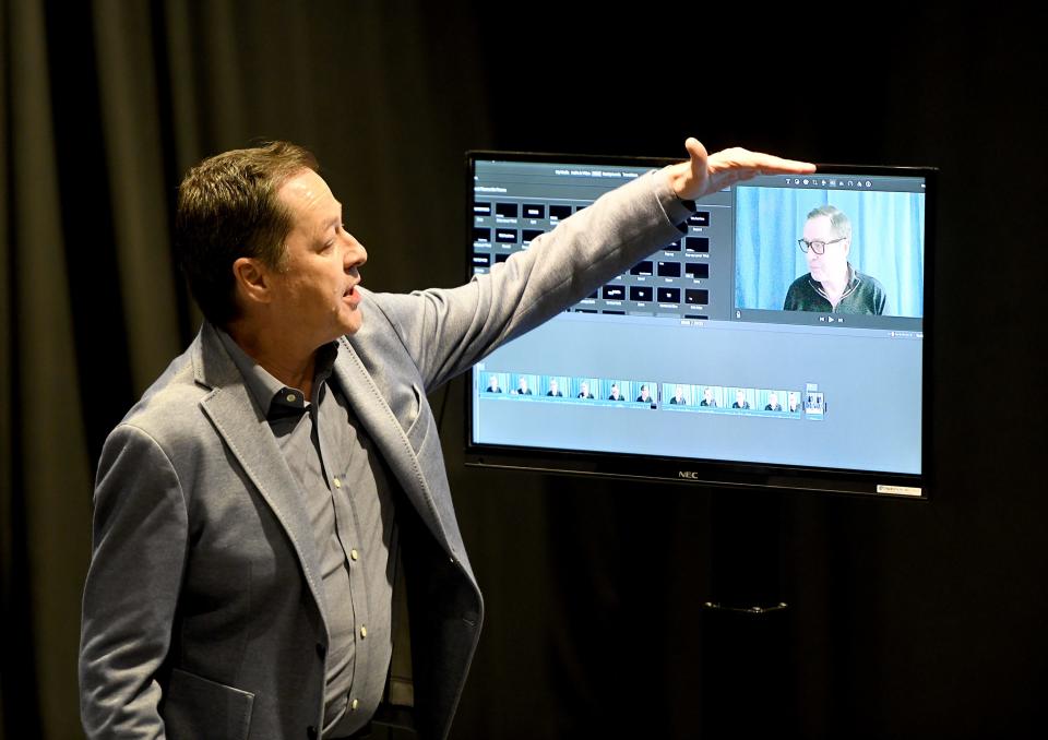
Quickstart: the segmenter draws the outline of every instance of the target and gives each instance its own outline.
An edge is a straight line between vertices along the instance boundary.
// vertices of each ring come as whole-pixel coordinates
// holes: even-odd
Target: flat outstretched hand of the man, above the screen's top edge
[[[706,147],[693,136],[684,142],[684,148],[689,160],[670,168],[669,184],[677,196],[686,201],[694,201],[758,175],[815,171],[815,166],[808,162],[783,159],[739,146],[706,154]]]

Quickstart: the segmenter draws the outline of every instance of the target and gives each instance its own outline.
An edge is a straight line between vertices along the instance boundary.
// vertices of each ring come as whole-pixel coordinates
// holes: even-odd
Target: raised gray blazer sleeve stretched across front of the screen
[[[678,224],[690,214],[664,170],[647,172],[464,286],[376,295],[372,305],[393,324],[431,390],[679,239]]]

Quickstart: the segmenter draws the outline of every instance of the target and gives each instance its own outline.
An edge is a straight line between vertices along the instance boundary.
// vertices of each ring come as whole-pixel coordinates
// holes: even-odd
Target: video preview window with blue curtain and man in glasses
[[[736,308],[922,318],[924,193],[741,186],[735,216]]]

